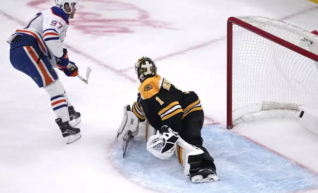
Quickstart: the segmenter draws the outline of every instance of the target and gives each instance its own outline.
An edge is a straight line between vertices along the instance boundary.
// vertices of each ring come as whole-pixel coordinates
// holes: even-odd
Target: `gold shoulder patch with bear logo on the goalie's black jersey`
[[[140,95],[143,99],[151,98],[152,96],[159,93],[160,90],[160,79],[161,77],[157,74],[156,76],[147,78],[139,87]]]

